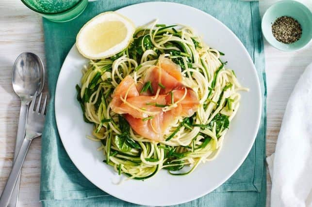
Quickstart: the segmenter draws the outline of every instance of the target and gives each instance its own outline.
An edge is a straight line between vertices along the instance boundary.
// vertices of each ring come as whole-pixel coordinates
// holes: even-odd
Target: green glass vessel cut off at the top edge
[[[53,22],[70,21],[84,11],[88,0],[21,0],[28,8]]]

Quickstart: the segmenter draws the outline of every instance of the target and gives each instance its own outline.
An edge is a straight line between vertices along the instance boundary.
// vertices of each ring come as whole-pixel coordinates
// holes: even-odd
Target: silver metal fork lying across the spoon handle
[[[42,134],[43,125],[44,125],[44,121],[46,117],[45,111],[46,111],[46,106],[47,106],[47,96],[45,97],[41,111],[40,111],[40,105],[41,105],[42,93],[40,93],[39,101],[37,103],[36,109],[34,110],[36,97],[37,97],[37,92],[33,95],[32,103],[30,104],[29,109],[28,109],[25,138],[19,149],[16,160],[13,163],[11,173],[5,184],[4,190],[1,194],[0,207],[8,206],[12,192],[14,190],[16,180],[18,178],[18,174],[24,163],[27,151],[33,139],[38,136],[41,136]]]

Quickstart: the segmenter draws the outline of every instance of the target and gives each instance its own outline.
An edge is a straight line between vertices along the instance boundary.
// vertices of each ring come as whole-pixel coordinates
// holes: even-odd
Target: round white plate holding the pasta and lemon
[[[238,169],[255,140],[261,117],[261,93],[253,62],[232,31],[211,15],[195,8],[177,3],[148,2],[117,12],[132,19],[137,26],[158,18],[160,24],[180,23],[193,27],[207,44],[226,54],[223,59],[229,62],[227,66],[235,71],[241,84],[250,91],[241,93],[240,108],[215,160],[200,164],[187,176],[171,176],[161,170],[145,181],[129,180],[116,185],[118,175],[111,166],[102,162],[102,152],[96,150],[100,143],[86,138],[91,134],[92,125],[83,122],[75,86],[80,83],[81,69],[87,59],[78,53],[74,45],[62,66],[55,94],[56,123],[66,152],[86,178],[122,200],[147,206],[166,206],[201,197],[224,183]]]

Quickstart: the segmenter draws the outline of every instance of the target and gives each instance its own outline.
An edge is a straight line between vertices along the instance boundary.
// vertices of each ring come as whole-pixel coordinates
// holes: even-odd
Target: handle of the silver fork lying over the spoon
[[[13,167],[11,170],[11,173],[9,175],[9,178],[5,184],[4,190],[1,194],[0,198],[0,207],[7,207],[10,202],[10,198],[12,195],[12,192],[14,190],[19,172],[22,168],[22,165],[24,163],[27,151],[29,149],[29,146],[31,144],[32,140],[24,138],[22,146],[20,147],[16,160],[13,163]]]

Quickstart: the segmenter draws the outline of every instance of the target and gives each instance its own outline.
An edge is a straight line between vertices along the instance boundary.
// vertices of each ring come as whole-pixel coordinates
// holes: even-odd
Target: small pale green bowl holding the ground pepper
[[[280,16],[291,16],[301,25],[301,38],[291,44],[284,44],[275,39],[272,34],[272,24]],[[262,32],[267,42],[279,50],[294,51],[303,48],[312,39],[312,13],[302,3],[295,0],[281,0],[273,4],[263,15]]]

